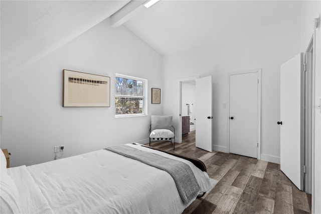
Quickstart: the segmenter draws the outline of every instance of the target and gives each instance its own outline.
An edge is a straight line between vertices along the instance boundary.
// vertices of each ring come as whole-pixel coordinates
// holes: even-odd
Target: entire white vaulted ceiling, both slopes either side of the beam
[[[161,54],[299,19],[301,1],[1,1],[2,78],[111,16]],[[119,18],[120,17],[120,18]],[[5,71],[5,72],[3,72]]]

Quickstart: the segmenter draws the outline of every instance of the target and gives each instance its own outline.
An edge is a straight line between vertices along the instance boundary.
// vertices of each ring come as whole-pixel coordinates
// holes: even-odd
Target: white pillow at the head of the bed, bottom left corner
[[[16,184],[7,172],[0,173],[0,213],[20,213]]]

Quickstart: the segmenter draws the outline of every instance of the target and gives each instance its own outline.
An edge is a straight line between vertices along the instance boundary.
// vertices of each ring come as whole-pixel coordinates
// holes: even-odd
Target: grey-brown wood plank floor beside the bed
[[[311,195],[298,190],[280,165],[235,154],[195,147],[195,132],[176,144],[154,142],[152,147],[202,160],[217,185],[183,213],[310,213]]]

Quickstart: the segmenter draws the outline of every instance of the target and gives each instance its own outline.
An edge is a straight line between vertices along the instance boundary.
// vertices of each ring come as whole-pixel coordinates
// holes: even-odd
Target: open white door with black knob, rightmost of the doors
[[[303,53],[281,65],[280,87],[280,162],[281,170],[297,186],[303,189],[304,110]],[[302,114],[303,113],[303,114]],[[303,127],[302,127],[303,126]],[[302,153],[301,153],[301,148]]]

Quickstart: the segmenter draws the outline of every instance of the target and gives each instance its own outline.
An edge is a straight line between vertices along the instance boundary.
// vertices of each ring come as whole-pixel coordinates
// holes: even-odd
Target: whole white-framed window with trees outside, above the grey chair
[[[147,115],[147,79],[116,74],[115,117]]]

